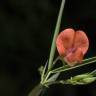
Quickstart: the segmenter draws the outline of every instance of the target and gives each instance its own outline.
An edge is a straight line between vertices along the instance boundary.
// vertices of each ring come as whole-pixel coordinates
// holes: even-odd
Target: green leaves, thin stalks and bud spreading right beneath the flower
[[[58,59],[58,60],[61,60],[61,59]],[[57,62],[57,59],[56,59],[56,62]],[[55,62],[55,64],[56,64],[56,62]],[[45,64],[45,67],[41,66],[39,68],[39,71],[41,73],[41,84],[48,87],[51,84],[57,84],[57,83],[72,84],[72,85],[84,85],[84,84],[92,83],[96,80],[96,70],[89,72],[89,73],[84,73],[81,75],[71,77],[68,80],[57,81],[57,78],[61,72],[65,72],[65,71],[69,71],[69,70],[71,71],[72,69],[83,67],[83,66],[85,66],[87,64],[91,64],[93,62],[96,62],[96,57],[85,59],[85,60],[83,60],[82,64],[77,64],[76,66],[73,66],[73,67],[70,67],[67,64],[65,64],[65,65],[63,64],[59,68],[53,67],[53,69],[51,69],[50,71],[48,71],[48,69],[47,69],[47,64],[48,64],[48,62],[47,62]],[[46,72],[45,72],[45,70],[46,70]]]

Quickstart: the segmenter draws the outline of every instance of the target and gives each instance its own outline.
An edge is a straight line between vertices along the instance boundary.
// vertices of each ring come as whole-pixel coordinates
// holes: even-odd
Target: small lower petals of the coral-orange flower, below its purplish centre
[[[68,63],[70,66],[74,66],[76,63],[81,63],[83,59],[83,53],[81,48],[78,48],[75,52],[69,53],[64,60]]]

